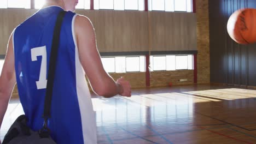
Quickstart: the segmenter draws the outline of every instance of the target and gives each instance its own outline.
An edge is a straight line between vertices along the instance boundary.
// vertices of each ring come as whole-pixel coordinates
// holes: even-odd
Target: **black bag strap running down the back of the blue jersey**
[[[56,68],[56,61],[57,61],[57,54],[59,49],[60,43],[60,32],[63,17],[65,16],[66,11],[60,11],[56,25],[54,27],[54,35],[53,35],[53,43],[51,45],[51,55],[50,55],[50,62],[49,62],[49,70],[48,70],[48,80],[46,86],[46,95],[44,101],[44,125],[43,128],[39,131],[40,136],[48,137],[50,130],[48,128],[48,119],[51,117],[51,98],[53,97],[53,85],[54,85],[54,76],[55,76],[55,68]]]

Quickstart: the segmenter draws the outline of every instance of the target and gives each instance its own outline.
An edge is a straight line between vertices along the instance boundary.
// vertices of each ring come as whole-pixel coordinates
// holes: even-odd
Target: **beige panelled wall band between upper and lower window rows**
[[[5,54],[13,29],[36,10],[0,9],[0,55]],[[196,50],[196,14],[156,11],[77,10],[88,16],[97,36],[100,52],[149,51],[149,25],[152,25],[152,51]],[[148,16],[151,17],[150,21]],[[150,22],[150,23],[149,23]]]

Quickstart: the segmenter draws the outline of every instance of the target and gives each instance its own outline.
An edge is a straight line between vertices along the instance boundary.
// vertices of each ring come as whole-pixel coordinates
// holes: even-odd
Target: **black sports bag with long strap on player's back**
[[[44,101],[44,124],[39,131],[33,131],[27,127],[27,119],[25,115],[19,116],[11,125],[7,134],[4,137],[2,144],[56,144],[50,137],[50,129],[48,128],[48,119],[50,118],[51,98],[53,96],[53,82],[55,75],[55,66],[57,52],[59,49],[60,31],[66,11],[61,11],[57,17],[54,28],[53,44],[51,45],[50,65],[48,73],[48,81],[46,87],[46,95]]]

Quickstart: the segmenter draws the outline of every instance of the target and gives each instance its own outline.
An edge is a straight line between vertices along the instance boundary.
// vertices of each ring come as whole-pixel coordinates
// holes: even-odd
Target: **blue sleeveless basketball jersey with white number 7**
[[[14,31],[20,101],[27,124],[35,131],[43,125],[51,43],[61,10],[57,6],[40,9]],[[63,19],[56,63],[49,128],[58,144],[97,143],[95,112],[74,34],[75,16],[68,11]]]

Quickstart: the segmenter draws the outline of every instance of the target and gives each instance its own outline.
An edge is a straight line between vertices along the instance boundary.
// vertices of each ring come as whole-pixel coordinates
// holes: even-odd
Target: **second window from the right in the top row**
[[[94,0],[94,9],[144,10],[144,0]]]

